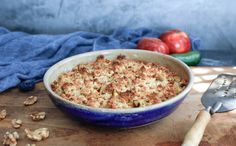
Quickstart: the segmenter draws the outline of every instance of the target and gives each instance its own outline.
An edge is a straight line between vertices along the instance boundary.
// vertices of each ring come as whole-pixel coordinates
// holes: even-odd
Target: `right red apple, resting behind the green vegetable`
[[[191,49],[189,36],[177,29],[162,33],[160,39],[169,47],[170,53],[186,53]]]

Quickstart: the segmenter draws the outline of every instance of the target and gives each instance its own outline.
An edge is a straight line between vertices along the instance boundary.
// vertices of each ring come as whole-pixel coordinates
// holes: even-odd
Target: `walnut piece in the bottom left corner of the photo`
[[[19,134],[15,132],[6,132],[6,134],[3,137],[3,145],[6,146],[16,146],[17,145],[17,140],[19,139]]]

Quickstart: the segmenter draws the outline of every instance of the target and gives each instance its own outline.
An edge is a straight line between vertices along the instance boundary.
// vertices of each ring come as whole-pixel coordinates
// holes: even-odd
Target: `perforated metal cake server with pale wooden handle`
[[[182,146],[198,146],[211,115],[236,109],[236,75],[220,74],[201,98],[205,110],[200,111],[185,135]]]

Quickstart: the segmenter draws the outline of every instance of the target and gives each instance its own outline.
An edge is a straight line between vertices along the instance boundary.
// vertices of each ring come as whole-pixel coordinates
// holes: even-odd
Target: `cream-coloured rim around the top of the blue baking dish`
[[[69,62],[71,60],[74,60],[75,58],[82,57],[82,56],[89,56],[89,55],[94,55],[94,54],[97,54],[97,53],[106,55],[106,54],[110,54],[110,53],[114,53],[114,52],[120,52],[120,51],[124,51],[124,53],[125,52],[132,52],[132,53],[143,52],[143,53],[148,53],[148,54],[156,53],[156,54],[159,54],[159,55],[162,55],[162,56],[165,56],[165,57],[169,58],[171,61],[177,62],[178,64],[180,64],[184,67],[184,69],[187,71],[187,73],[189,75],[189,81],[188,81],[187,87],[181,93],[179,93],[178,95],[176,95],[174,97],[171,97],[170,99],[168,99],[166,101],[163,101],[161,103],[157,103],[157,104],[153,104],[153,105],[149,105],[149,106],[145,106],[145,107],[127,108],[127,109],[95,108],[95,107],[90,107],[90,106],[86,106],[86,105],[82,105],[82,104],[77,104],[77,103],[74,103],[74,102],[71,102],[69,100],[66,100],[66,99],[62,98],[61,96],[56,94],[54,91],[52,91],[48,79],[52,75],[52,73],[57,69],[57,67],[61,66],[61,64],[65,65],[67,62]],[[47,72],[45,73],[44,78],[43,78],[43,82],[44,82],[44,86],[45,86],[46,90],[51,95],[54,96],[53,98],[57,98],[57,99],[63,101],[65,104],[71,105],[71,106],[76,107],[76,108],[84,109],[84,110],[94,111],[94,112],[104,112],[104,113],[107,112],[107,113],[117,113],[117,114],[118,113],[142,112],[142,111],[153,110],[153,109],[156,109],[156,108],[161,108],[161,107],[173,104],[176,101],[184,98],[184,96],[186,96],[188,94],[188,92],[191,90],[191,88],[193,86],[193,80],[194,80],[194,76],[193,76],[193,73],[192,73],[191,69],[185,63],[181,62],[180,60],[178,60],[178,59],[176,59],[172,56],[161,54],[161,53],[158,53],[158,52],[151,52],[151,51],[146,51],[146,50],[134,50],[134,49],[102,50],[102,51],[93,51],[93,52],[87,52],[87,53],[71,56],[71,57],[63,59],[63,60],[57,62],[56,64],[54,64],[53,66],[51,66],[47,70]]]

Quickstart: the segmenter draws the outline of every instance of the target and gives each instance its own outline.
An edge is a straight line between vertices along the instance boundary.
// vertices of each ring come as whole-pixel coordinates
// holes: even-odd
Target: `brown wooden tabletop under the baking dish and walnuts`
[[[49,128],[50,137],[34,142],[37,146],[179,146],[199,110],[203,109],[200,98],[211,80],[220,73],[236,73],[236,67],[195,67],[192,70],[195,84],[174,113],[158,123],[128,130],[92,127],[69,118],[54,106],[42,83],[30,92],[8,90],[0,94],[0,110],[6,109],[9,113],[6,119],[0,121],[0,137],[6,131],[14,131],[11,119],[19,118],[23,121],[23,126],[16,130],[20,133],[19,146],[33,143],[25,136],[23,129],[26,127]],[[39,101],[33,106],[24,107],[25,97],[31,95],[38,96]],[[33,111],[45,111],[47,118],[33,122],[29,117]],[[215,114],[200,145],[236,146],[236,110]]]

